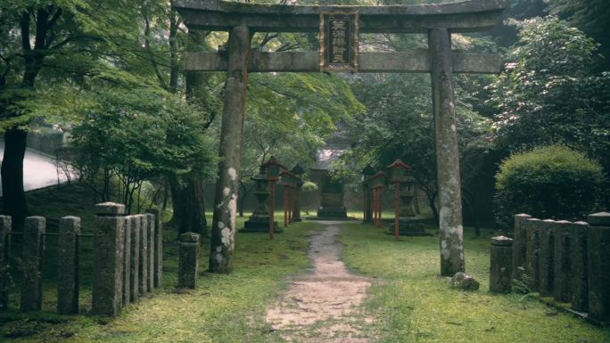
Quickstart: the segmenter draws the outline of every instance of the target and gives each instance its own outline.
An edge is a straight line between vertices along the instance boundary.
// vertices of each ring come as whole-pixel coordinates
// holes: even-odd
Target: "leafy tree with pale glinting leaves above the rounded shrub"
[[[563,143],[610,167],[610,75],[590,73],[596,46],[554,17],[523,21],[515,63],[490,86],[500,147]]]

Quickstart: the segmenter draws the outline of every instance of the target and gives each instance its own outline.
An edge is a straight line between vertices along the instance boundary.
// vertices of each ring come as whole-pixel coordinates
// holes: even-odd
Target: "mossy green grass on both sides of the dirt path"
[[[87,191],[47,192],[30,205],[36,214],[58,218],[83,216],[91,229],[92,204]],[[385,215],[385,214],[384,214]],[[87,219],[88,218],[88,219]],[[238,227],[243,226],[240,218]],[[276,220],[283,223],[282,214]],[[367,300],[367,315],[375,321],[368,329],[379,342],[610,342],[610,331],[584,323],[570,314],[522,295],[488,292],[489,239],[466,231],[466,271],[481,282],[481,290],[465,293],[449,289],[440,278],[438,236],[401,238],[357,222],[342,226],[342,257],[356,273],[370,276],[374,285]],[[44,310],[0,314],[0,341],[4,342],[278,342],[278,334],[265,323],[265,310],[274,304],[284,281],[309,267],[309,236],[316,223],[292,225],[269,241],[265,234],[238,234],[235,272],[207,274],[207,241],[202,244],[199,286],[178,291],[177,233],[165,231],[164,287],[126,307],[116,319],[85,314],[54,314],[53,249],[45,259]],[[54,238],[51,238],[54,239]],[[50,242],[51,243],[51,242]],[[50,244],[50,246],[53,246]],[[90,306],[91,247],[86,245],[81,304]],[[88,254],[88,255],[87,255]],[[12,294],[12,307],[18,306]]]

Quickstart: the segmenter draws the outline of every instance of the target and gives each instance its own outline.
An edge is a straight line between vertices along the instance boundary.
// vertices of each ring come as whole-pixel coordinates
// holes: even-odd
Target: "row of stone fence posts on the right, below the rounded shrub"
[[[610,323],[610,213],[575,223],[517,215],[514,239],[492,238],[490,258],[490,291],[522,282],[540,298]]]

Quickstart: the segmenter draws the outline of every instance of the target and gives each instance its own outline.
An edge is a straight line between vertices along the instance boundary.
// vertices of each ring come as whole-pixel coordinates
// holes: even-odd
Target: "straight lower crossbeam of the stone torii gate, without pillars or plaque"
[[[261,53],[251,52],[250,72],[318,72],[317,52]],[[451,53],[453,71],[458,74],[498,74],[500,57],[492,53]],[[219,53],[186,53],[185,69],[190,71],[225,71],[227,57]],[[359,53],[359,73],[429,73],[430,52]]]

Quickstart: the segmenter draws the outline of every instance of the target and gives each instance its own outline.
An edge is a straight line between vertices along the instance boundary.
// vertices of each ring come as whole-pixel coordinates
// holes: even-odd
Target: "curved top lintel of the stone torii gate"
[[[243,4],[215,0],[175,0],[174,8],[189,29],[228,30],[245,25],[254,31],[317,32],[320,12],[358,12],[362,33],[426,33],[428,29],[470,32],[489,29],[507,8],[506,0],[463,1],[453,4],[388,6],[306,6]]]

